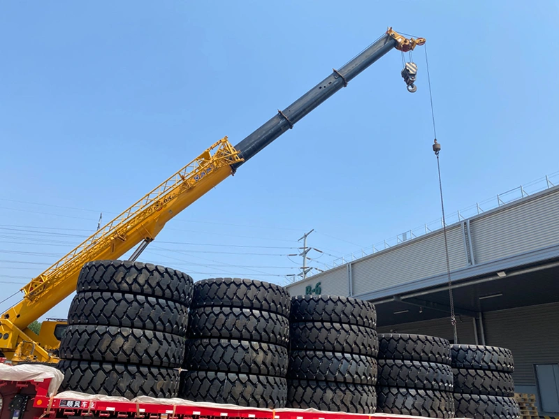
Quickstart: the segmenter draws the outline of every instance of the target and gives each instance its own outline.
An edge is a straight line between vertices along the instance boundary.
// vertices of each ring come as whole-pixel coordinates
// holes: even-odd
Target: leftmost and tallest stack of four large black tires
[[[60,342],[62,390],[176,397],[193,282],[149,263],[96,260],[78,277]]]

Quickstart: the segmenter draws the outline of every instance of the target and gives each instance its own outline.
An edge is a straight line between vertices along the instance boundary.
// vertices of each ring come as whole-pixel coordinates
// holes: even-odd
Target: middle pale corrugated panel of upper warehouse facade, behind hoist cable
[[[447,230],[451,270],[467,265],[461,225]],[[354,295],[379,291],[447,270],[442,231],[376,253],[352,265]]]

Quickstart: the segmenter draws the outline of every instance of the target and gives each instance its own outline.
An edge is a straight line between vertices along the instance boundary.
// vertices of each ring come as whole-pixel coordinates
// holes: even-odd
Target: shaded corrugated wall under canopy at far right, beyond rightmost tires
[[[514,383],[535,384],[534,364],[559,363],[559,302],[484,314],[486,344],[509,348]]]

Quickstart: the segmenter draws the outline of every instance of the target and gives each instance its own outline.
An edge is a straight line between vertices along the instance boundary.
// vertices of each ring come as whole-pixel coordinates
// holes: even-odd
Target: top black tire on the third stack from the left
[[[375,304],[336,295],[299,295],[291,298],[291,323],[327,321],[377,328]]]

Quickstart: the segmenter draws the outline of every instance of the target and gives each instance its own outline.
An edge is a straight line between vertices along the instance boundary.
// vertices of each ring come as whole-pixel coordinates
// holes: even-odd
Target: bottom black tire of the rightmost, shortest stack
[[[471,419],[520,419],[520,408],[514,397],[462,395],[454,393],[456,417]]]

